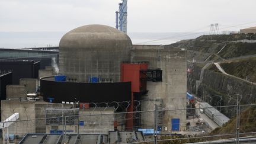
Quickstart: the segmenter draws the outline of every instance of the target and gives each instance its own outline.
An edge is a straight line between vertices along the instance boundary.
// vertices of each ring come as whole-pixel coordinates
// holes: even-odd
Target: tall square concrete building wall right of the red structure
[[[148,94],[143,96],[142,110],[186,108],[187,59],[181,49],[132,49],[131,62],[149,62],[149,69],[162,70],[162,82],[147,82]],[[151,100],[151,101],[148,101]],[[163,101],[162,105],[159,101]],[[186,111],[165,111],[162,127],[171,131],[171,119],[180,119],[180,130],[185,130]],[[142,125],[153,126],[152,113],[142,114]]]

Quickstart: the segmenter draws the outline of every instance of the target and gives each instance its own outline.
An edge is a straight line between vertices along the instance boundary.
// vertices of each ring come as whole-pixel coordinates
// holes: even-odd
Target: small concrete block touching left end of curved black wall
[[[20,85],[25,86],[27,94],[32,94],[36,92],[38,80],[34,78],[21,78]]]

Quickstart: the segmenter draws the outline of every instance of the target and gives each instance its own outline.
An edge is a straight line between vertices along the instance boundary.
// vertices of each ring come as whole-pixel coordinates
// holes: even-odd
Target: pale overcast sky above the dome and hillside
[[[69,31],[87,24],[114,27],[119,2],[0,0],[0,31]],[[127,31],[205,31],[211,23],[220,28],[238,25],[228,29],[239,30],[256,26],[255,6],[255,0],[128,0]]]

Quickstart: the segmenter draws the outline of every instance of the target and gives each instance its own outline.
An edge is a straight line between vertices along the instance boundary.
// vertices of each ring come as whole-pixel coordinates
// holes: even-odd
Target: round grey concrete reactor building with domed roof
[[[120,62],[130,61],[132,41],[107,25],[85,25],[66,33],[59,43],[60,73],[86,82],[99,76],[119,81]]]

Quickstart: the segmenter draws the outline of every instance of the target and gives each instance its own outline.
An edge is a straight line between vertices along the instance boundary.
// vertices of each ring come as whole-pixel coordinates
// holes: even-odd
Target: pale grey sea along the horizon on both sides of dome
[[[0,48],[20,49],[32,47],[55,47],[66,32],[1,32]],[[180,40],[195,39],[199,33],[128,33],[133,44],[171,44]]]

